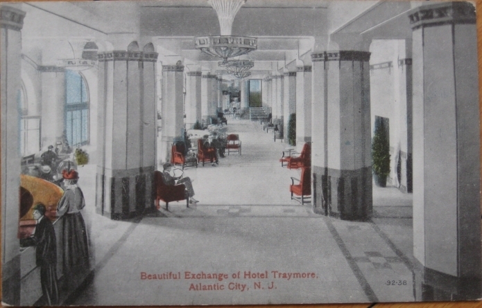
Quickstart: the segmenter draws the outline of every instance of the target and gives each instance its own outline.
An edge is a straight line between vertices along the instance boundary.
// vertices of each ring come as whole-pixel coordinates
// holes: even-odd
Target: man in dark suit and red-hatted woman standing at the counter
[[[78,274],[89,271],[89,245],[87,228],[80,211],[85,207],[82,190],[77,185],[78,172],[63,170],[64,194],[57,206],[62,224],[62,274],[66,281],[74,280]],[[57,286],[57,239],[52,221],[46,217],[46,206],[37,203],[33,207],[33,218],[37,220],[33,235],[21,239],[21,246],[36,246],[36,264],[40,266],[40,282],[45,305],[58,305]]]

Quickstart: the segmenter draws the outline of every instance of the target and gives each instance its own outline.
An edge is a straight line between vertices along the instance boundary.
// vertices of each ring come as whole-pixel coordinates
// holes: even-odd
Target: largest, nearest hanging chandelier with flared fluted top
[[[207,0],[207,2],[218,14],[221,35],[195,37],[194,46],[196,48],[208,55],[223,58],[223,62],[227,62],[228,57],[244,55],[257,48],[255,37],[231,35],[234,16],[246,0]]]

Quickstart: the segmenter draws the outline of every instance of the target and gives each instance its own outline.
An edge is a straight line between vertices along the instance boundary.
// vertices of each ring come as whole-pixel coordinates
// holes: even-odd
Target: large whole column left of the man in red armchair
[[[98,53],[96,210],[111,219],[154,206],[156,61],[154,52]]]

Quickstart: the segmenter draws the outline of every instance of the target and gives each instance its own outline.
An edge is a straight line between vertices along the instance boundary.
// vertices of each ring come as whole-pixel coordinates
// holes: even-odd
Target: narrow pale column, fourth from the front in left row
[[[201,123],[201,76],[200,71],[186,73],[186,129],[191,129],[196,121]]]

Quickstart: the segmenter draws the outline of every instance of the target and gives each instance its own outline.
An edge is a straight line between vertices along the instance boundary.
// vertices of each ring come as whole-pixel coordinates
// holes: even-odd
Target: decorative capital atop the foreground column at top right
[[[408,19],[412,30],[445,24],[475,24],[475,6],[465,1],[433,3],[414,8]]]

